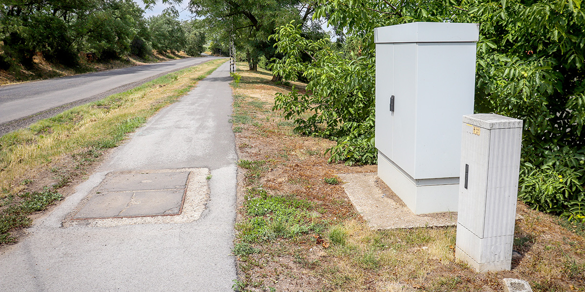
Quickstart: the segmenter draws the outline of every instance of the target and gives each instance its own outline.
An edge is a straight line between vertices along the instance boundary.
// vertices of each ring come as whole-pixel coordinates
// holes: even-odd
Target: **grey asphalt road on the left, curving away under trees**
[[[71,107],[127,91],[161,75],[216,58],[185,58],[0,86],[0,136]]]

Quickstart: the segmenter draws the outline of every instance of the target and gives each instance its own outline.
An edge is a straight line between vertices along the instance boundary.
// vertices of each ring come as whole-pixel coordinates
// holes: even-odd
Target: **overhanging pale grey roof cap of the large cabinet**
[[[374,43],[469,43],[479,40],[479,24],[412,22],[376,27]]]

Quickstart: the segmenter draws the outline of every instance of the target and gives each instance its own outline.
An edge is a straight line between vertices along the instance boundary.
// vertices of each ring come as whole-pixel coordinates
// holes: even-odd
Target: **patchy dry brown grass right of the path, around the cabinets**
[[[375,166],[328,164],[322,154],[335,142],[294,134],[294,125],[271,110],[274,93],[290,88],[271,83],[267,71],[239,73],[233,124],[238,155],[263,166],[253,176],[240,169],[247,174],[239,186],[238,222],[258,218],[246,213],[243,197],[261,187],[268,196],[308,201],[307,224],[323,227],[249,241],[256,250],[238,255],[247,291],[503,291],[507,277],[528,280],[534,291],[585,291],[585,239],[560,227],[558,217],[521,202],[524,220],[517,222],[514,249],[524,258],[514,260],[511,271],[476,273],[457,261],[455,227],[370,230],[343,187],[324,178],[376,171]],[[246,243],[246,232],[239,228],[236,245]]]

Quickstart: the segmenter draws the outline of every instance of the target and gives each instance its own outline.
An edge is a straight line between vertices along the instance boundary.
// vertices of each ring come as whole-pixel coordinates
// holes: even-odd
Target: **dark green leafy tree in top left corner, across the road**
[[[0,4],[0,40],[6,65],[43,57],[75,65],[78,53],[96,58],[127,54],[140,33],[142,9],[130,0],[8,0]]]

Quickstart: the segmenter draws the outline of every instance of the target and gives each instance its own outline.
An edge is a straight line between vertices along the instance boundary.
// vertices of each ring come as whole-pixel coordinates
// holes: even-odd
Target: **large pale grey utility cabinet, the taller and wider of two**
[[[374,30],[378,176],[415,214],[457,211],[460,123],[473,114],[478,38],[474,23]]]

